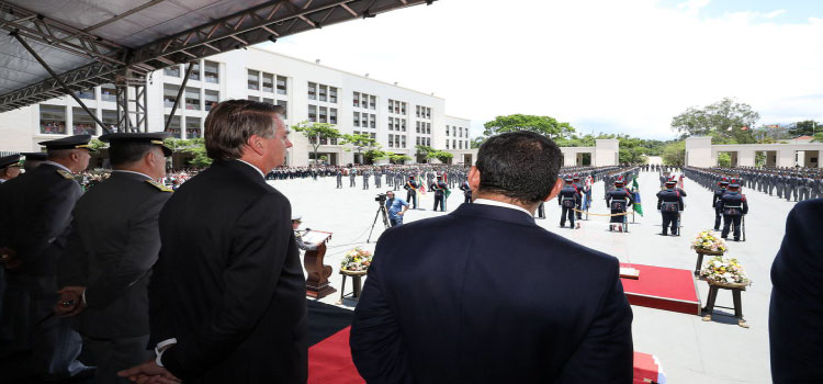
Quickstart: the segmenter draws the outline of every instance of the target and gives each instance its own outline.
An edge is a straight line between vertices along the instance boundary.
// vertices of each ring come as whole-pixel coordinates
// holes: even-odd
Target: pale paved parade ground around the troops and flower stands
[[[371,189],[363,190],[361,182],[362,178],[358,177],[357,187],[349,188],[349,179],[343,178],[345,187],[336,189],[334,177],[318,178],[316,181],[270,181],[271,185],[289,197],[293,212],[303,216],[302,228],[334,233],[327,244],[326,264],[334,269],[330,281],[338,292],[320,300],[327,304],[337,304],[340,300],[341,275],[338,272],[343,253],[354,247],[373,251],[384,230],[382,219],[379,218],[371,241],[367,244],[379,207],[374,197],[390,188],[385,181],[381,189],[374,188],[372,178]],[[580,222],[580,229],[560,228],[560,207],[556,201],[546,203],[546,218],[537,219],[537,223],[554,234],[612,255],[623,263],[694,270],[696,253],[690,249],[690,242],[698,233],[713,226],[712,192],[686,179],[684,189],[688,196],[685,197],[681,236],[663,237],[658,235],[661,216],[656,211],[655,197],[659,190],[658,174],[641,172],[639,182],[645,216],[634,215],[634,224],[630,224],[629,233],[610,233],[608,217],[594,215],[588,221]],[[718,295],[711,321],[703,321],[697,314],[687,315],[632,305],[634,350],[657,357],[669,383],[771,381],[768,348],[768,306],[771,292],[769,271],[783,237],[786,217],[794,203],[747,189],[743,192],[749,202],[746,241],[729,241],[726,257],[737,258],[753,282],[742,294],[743,314],[749,328],[737,326],[736,319],[731,316],[732,309],[718,307],[733,306],[732,294],[725,290],[721,290]],[[402,189],[396,194],[403,199],[406,196]],[[597,182],[594,185],[590,213],[608,213],[602,195],[604,183]],[[433,195],[427,193],[418,202],[418,207],[422,210],[409,210],[405,222],[448,214],[462,202],[463,193],[454,189],[448,200],[447,212],[432,212]],[[629,222],[632,222],[631,216]],[[563,252],[562,249],[551,251]],[[517,255],[501,257],[516,258]],[[640,279],[643,279],[642,274]],[[696,285],[698,297],[704,306],[709,286],[703,281],[697,281]],[[347,282],[346,291],[351,292],[350,281]],[[574,295],[574,292],[568,292],[568,295]],[[347,298],[340,306],[353,309],[356,304],[356,301]]]

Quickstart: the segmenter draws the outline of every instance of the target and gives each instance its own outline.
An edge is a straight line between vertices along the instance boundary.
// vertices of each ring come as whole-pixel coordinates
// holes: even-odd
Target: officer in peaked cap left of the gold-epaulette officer
[[[80,336],[70,320],[54,316],[57,266],[66,246],[71,210],[82,193],[74,173],[89,166],[89,135],[41,142],[47,161],[3,188],[0,230],[8,286],[3,328],[12,339],[2,349],[32,351],[31,372],[45,380],[88,374],[77,361]]]

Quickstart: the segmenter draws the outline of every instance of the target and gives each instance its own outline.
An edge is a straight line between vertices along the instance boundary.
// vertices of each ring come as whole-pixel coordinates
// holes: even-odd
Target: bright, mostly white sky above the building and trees
[[[760,124],[823,118],[823,1],[439,0],[267,43],[446,99],[472,135],[498,115],[669,139],[723,98]]]

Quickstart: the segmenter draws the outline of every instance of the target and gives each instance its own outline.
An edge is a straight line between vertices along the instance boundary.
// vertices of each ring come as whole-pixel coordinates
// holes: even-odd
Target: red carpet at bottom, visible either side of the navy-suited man
[[[349,350],[349,329],[328,337],[308,348],[308,384],[362,384],[363,379],[358,374],[351,361]],[[634,352],[634,383],[658,382],[659,365],[654,357]]]

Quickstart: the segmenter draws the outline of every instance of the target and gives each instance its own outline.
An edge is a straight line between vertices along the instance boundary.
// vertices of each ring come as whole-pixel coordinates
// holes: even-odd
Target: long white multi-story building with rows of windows
[[[164,131],[180,91],[185,67],[176,66],[149,77],[148,131]],[[78,95],[104,124],[116,124],[113,86],[101,86]],[[286,121],[335,124],[343,134],[367,134],[381,149],[416,159],[416,145],[449,150],[453,162],[471,163],[470,121],[446,115],[446,100],[347,71],[250,47],[202,59],[194,67],[171,118],[173,137],[203,136],[211,106],[228,99],[250,99],[286,109]],[[91,117],[70,97],[0,114],[0,150],[38,150],[37,142],[72,134],[101,134]],[[293,133],[288,163],[311,162],[309,140]],[[323,143],[318,156],[329,163],[361,162],[350,146]]]

